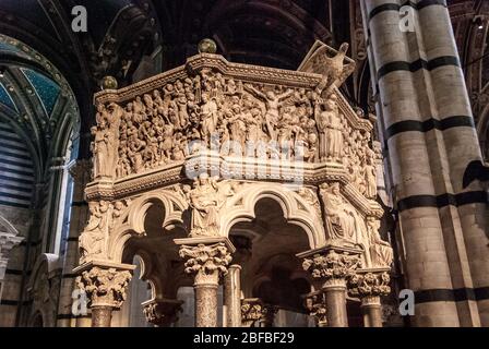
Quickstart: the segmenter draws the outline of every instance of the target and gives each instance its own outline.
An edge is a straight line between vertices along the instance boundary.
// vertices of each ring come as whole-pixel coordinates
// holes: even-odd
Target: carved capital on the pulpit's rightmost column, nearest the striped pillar
[[[348,293],[359,297],[362,304],[378,303],[378,298],[391,293],[390,268],[358,269],[348,280]]]

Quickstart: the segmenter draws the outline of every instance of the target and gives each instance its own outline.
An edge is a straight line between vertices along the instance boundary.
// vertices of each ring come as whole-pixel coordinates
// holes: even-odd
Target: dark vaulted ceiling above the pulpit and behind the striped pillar
[[[468,89],[479,112],[487,105],[485,91],[489,82],[489,57],[480,59],[487,49],[489,2],[448,3],[466,65]],[[71,10],[75,5],[84,5],[88,11],[87,33],[74,33],[71,28]],[[296,69],[315,39],[332,46],[349,41],[349,55],[358,67],[345,94],[353,104],[365,108],[370,103],[359,0],[1,0],[0,34],[37,51],[64,77],[80,108],[82,156],[88,155],[92,96],[99,89],[103,76],[114,75],[120,85],[133,82],[141,60],[158,47],[162,55],[156,71],[170,69],[196,53],[196,45],[204,37],[213,38],[218,52],[230,61],[285,69]],[[10,68],[11,58],[15,59],[14,68]],[[46,70],[45,67],[37,67],[39,62],[26,57],[22,48],[15,52],[8,45],[0,46],[0,64],[9,67],[9,82],[0,87],[3,106],[9,108],[13,103],[19,107],[20,93],[5,97],[9,86],[15,83],[16,87],[31,86],[36,97],[32,108],[49,115],[56,85],[61,92],[65,89],[56,76],[43,75],[39,69]],[[43,80],[36,73],[48,79],[44,82],[46,87],[36,89],[35,84]],[[55,85],[49,87],[49,82]],[[27,124],[37,123],[43,129],[44,121],[44,137],[49,137],[51,120],[46,118]]]

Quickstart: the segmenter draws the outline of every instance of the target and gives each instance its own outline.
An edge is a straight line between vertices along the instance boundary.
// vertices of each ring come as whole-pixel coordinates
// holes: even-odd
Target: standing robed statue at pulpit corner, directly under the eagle
[[[319,101],[319,100],[318,100]],[[320,160],[339,160],[343,149],[343,125],[335,94],[323,104],[315,103],[314,115],[319,130]]]

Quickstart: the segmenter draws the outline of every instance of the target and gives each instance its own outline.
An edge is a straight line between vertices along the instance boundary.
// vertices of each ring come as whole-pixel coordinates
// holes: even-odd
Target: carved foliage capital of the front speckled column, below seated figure
[[[198,284],[218,284],[219,276],[227,273],[227,266],[232,257],[225,243],[200,243],[194,246],[182,245],[180,257],[187,258],[184,264],[187,274],[195,275]]]

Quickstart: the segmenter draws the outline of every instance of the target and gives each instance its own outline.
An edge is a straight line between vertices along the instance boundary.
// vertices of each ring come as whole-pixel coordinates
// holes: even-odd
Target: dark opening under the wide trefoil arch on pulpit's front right
[[[311,249],[308,234],[287,221],[282,205],[272,197],[257,202],[254,216],[235,224],[229,233],[237,249],[232,263],[242,267],[242,297],[276,308],[273,326],[309,326],[302,294],[311,291],[311,285],[296,257]]]

